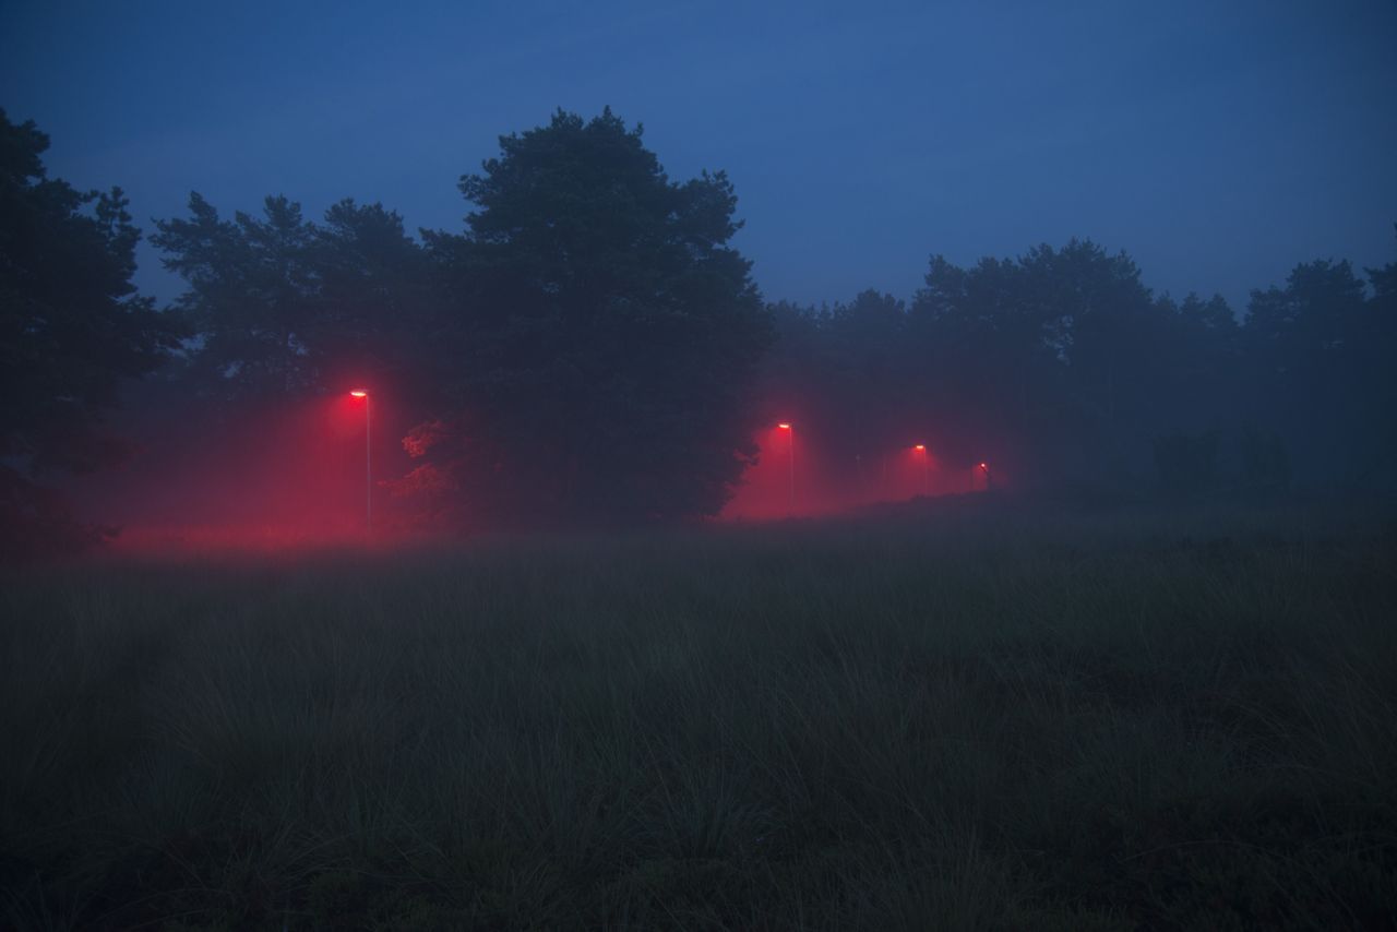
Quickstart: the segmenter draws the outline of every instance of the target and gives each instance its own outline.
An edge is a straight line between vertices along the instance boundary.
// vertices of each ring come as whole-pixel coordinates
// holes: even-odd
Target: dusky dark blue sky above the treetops
[[[729,172],[770,299],[1070,236],[1236,310],[1301,260],[1397,259],[1391,0],[0,6],[0,106],[147,231],[190,190],[457,231],[497,136],[606,103],[671,177]],[[151,250],[138,281],[177,292]]]

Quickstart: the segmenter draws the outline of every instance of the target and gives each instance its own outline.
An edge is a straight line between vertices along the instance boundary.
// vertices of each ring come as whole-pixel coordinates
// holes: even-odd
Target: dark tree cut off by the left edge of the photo
[[[78,191],[46,177],[47,137],[0,110],[0,552],[22,556],[92,539],[34,483],[110,464],[101,432],[123,379],[155,369],[175,321],[136,293],[140,232],[120,189]]]

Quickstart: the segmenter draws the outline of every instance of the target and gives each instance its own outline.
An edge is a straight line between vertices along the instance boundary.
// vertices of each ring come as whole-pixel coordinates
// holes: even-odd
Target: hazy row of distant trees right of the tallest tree
[[[1397,485],[1397,264],[1296,265],[1241,320],[1153,295],[1125,253],[930,260],[909,303],[773,306],[768,397],[856,457],[925,442],[1018,486],[1275,495]]]

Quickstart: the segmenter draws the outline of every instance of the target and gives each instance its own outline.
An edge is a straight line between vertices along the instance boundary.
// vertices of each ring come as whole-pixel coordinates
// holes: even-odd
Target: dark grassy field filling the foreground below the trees
[[[3,577],[0,925],[1397,926],[1390,514]]]

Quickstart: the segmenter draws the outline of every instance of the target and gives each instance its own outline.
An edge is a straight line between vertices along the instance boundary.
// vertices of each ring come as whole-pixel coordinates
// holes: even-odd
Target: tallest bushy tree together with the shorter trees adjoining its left
[[[158,221],[189,282],[184,397],[246,416],[366,387],[414,412],[415,468],[388,486],[418,523],[715,513],[756,454],[771,345],[728,179],[671,182],[638,127],[559,112],[460,187],[465,231],[420,242],[348,200],[316,224],[194,194]]]

